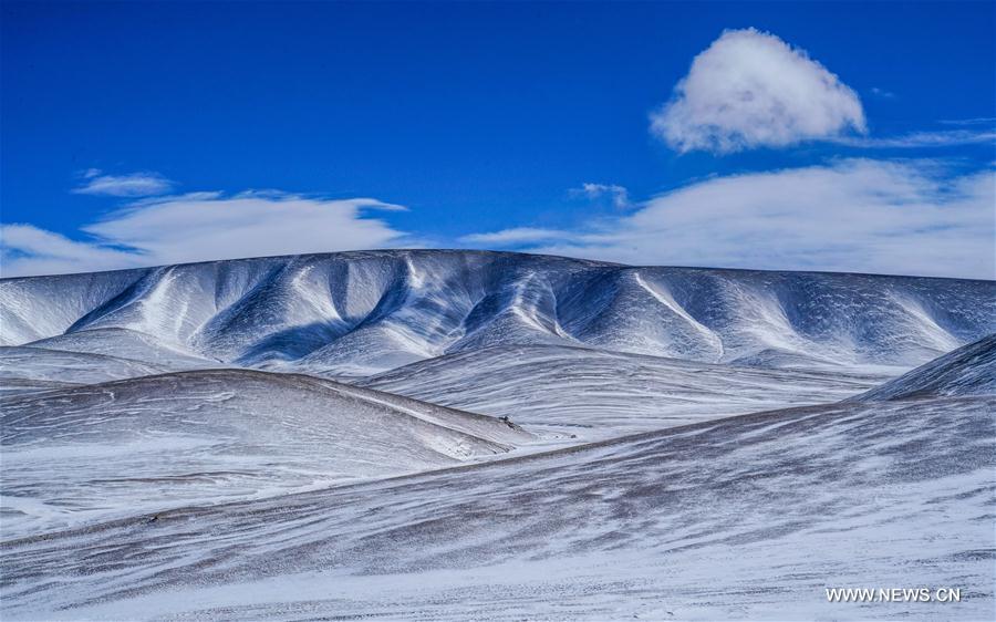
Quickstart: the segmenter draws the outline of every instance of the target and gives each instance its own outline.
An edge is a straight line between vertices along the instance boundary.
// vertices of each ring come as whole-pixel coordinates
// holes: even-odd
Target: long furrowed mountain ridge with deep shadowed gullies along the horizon
[[[996,283],[440,250],[0,280],[3,344],[97,330],[93,348],[126,359],[155,362],[136,354],[141,334],[158,352],[344,375],[532,344],[710,363],[910,367],[996,332]],[[110,330],[134,333],[128,353],[114,350]],[[62,341],[48,345],[70,349]]]

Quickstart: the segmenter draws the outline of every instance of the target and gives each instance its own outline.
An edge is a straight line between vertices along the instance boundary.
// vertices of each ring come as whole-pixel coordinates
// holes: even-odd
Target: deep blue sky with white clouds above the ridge
[[[6,1],[3,276],[421,246],[994,278],[994,7]]]

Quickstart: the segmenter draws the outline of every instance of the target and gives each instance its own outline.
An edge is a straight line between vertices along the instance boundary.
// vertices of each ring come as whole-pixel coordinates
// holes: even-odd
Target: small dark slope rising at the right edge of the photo
[[[958,348],[853,400],[996,395],[996,334]]]

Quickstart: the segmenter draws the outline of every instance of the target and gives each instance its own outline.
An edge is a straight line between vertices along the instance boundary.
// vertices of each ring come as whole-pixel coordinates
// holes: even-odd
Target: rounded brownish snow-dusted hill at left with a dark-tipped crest
[[[214,370],[0,400],[3,538],[445,467],[532,436],[291,374]]]

